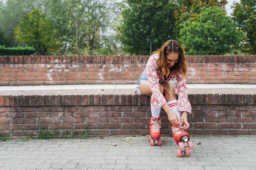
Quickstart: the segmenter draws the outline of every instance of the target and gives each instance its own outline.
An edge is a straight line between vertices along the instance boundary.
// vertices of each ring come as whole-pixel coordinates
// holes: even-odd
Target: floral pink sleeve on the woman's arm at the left
[[[151,58],[149,58],[149,61],[147,62],[146,72],[149,87],[152,91],[150,102],[155,109],[161,108],[164,104],[167,103],[164,95],[162,95],[162,93],[160,92],[159,77],[156,68],[156,58],[154,58],[154,56],[151,56]]]

